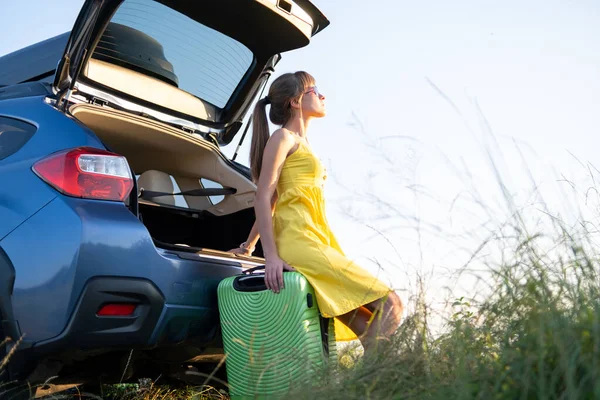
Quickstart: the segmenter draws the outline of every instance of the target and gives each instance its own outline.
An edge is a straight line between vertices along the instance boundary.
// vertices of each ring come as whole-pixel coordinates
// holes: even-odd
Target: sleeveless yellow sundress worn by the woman
[[[285,160],[273,215],[279,257],[306,277],[324,317],[346,314],[391,289],[346,258],[325,217],[325,168],[303,143]],[[337,318],[336,338],[356,339]]]

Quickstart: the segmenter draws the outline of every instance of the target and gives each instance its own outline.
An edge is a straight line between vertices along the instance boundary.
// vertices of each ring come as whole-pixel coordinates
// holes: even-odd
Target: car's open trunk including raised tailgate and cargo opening
[[[280,53],[328,24],[310,0],[85,0],[56,69],[56,106],[127,158],[129,207],[159,247],[217,254],[246,239],[256,190],[219,145],[240,131]]]

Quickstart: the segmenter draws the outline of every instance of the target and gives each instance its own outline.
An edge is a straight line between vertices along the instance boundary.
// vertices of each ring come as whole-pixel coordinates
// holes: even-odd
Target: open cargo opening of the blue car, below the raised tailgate
[[[110,151],[127,158],[138,177],[139,218],[157,247],[239,257],[223,252],[246,240],[254,223],[256,186],[247,171],[227,160],[216,145],[162,122],[85,103],[69,111]],[[235,193],[172,195],[207,187]],[[144,191],[167,195],[144,198]],[[262,256],[262,249],[255,255]]]

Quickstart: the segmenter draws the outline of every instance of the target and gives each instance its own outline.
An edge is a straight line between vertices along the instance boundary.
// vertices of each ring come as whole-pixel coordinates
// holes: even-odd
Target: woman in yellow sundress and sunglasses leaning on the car
[[[248,240],[231,251],[252,254],[260,234],[267,288],[279,293],[283,271],[297,270],[315,289],[322,315],[336,318],[337,339],[358,337],[369,352],[395,332],[402,303],[345,257],[327,224],[325,169],[307,140],[310,121],[325,116],[324,100],[313,77],[300,71],[278,77],[256,104],[250,151],[256,223]],[[281,126],[272,135],[267,105],[271,122]]]

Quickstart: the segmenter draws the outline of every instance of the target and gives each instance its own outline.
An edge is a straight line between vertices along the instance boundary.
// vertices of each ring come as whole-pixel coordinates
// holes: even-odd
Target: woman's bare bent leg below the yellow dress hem
[[[365,352],[394,334],[402,317],[402,301],[395,292],[337,317],[360,339]]]

